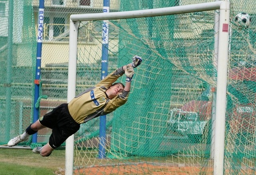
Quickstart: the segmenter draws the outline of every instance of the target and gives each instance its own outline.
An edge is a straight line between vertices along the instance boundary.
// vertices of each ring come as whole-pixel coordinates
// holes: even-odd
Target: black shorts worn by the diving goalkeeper
[[[51,112],[40,117],[41,125],[52,129],[49,145],[52,149],[59,147],[66,139],[76,133],[80,124],[74,121],[68,111],[68,104],[64,103],[54,108]]]

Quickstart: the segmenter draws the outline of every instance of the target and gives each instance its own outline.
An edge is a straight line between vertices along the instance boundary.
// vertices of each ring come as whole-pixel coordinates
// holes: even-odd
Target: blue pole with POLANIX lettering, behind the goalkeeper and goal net
[[[110,0],[103,1],[103,13],[109,12]],[[102,61],[101,80],[108,75],[108,20],[103,20],[102,24]],[[106,157],[106,115],[100,116],[100,144],[99,158]]]

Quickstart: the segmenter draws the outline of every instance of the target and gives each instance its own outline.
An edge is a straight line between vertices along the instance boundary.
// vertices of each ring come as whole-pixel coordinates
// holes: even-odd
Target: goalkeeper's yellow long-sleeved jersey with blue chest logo
[[[126,103],[129,92],[123,91],[113,99],[109,99],[106,90],[124,74],[118,68],[94,87],[88,88],[68,103],[68,111],[77,123],[86,123],[100,115],[106,115]]]

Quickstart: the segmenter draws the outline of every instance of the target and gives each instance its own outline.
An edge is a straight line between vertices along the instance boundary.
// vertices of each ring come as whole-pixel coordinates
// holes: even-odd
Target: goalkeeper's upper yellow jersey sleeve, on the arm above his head
[[[104,86],[106,88],[110,87],[120,76],[124,74],[123,67],[116,69],[111,74],[108,74],[104,79],[102,79],[96,86]]]

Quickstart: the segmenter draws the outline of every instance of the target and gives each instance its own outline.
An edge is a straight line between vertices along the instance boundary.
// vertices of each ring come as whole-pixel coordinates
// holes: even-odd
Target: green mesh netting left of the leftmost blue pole
[[[30,7],[30,8],[29,8]],[[36,40],[31,1],[0,2],[0,144],[31,122]]]

